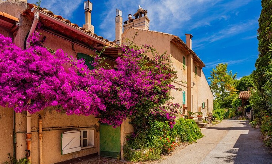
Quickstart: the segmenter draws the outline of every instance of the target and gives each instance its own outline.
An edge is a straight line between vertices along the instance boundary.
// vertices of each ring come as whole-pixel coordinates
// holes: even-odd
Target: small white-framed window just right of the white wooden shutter
[[[80,131],[80,147],[89,148],[94,146],[94,130],[86,129]]]

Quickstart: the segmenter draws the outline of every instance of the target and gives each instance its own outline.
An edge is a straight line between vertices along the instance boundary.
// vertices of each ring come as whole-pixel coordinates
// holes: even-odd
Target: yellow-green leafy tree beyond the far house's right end
[[[225,97],[235,93],[236,89],[234,87],[234,79],[236,74],[232,74],[232,71],[227,70],[228,64],[221,63],[216,65],[215,69],[211,71],[210,79],[210,89],[213,95],[221,100]]]

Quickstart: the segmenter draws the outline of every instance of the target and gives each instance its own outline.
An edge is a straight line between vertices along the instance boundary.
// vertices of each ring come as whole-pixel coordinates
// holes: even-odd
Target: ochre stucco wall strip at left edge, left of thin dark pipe
[[[0,163],[13,156],[13,109],[0,106]]]

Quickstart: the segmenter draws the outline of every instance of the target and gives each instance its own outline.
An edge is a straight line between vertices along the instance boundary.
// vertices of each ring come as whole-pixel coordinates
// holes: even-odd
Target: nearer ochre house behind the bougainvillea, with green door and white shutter
[[[107,56],[106,62],[114,67],[114,59],[121,52],[109,42],[94,33],[91,24],[92,3],[87,1],[85,24],[79,27],[68,19],[45,8],[38,8],[27,0],[0,1],[0,33],[11,37],[21,49],[27,48],[29,33],[33,33],[37,23],[42,26],[42,36],[46,37],[44,46],[63,49],[74,58],[94,60],[94,49],[102,49]],[[66,115],[48,107],[36,114],[15,113],[12,108],[0,106],[0,163],[9,161],[8,153],[14,159],[27,155],[32,163],[58,163],[82,156],[117,156],[127,133],[133,128],[128,120],[113,129],[100,125],[92,115]],[[109,140],[116,137],[114,142]],[[101,141],[101,142],[100,142]],[[112,147],[107,144],[114,144]]]

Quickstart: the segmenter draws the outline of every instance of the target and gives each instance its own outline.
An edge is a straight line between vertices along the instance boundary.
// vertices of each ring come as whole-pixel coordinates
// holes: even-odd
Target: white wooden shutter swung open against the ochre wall
[[[61,134],[61,155],[80,150],[80,131],[66,131]]]

